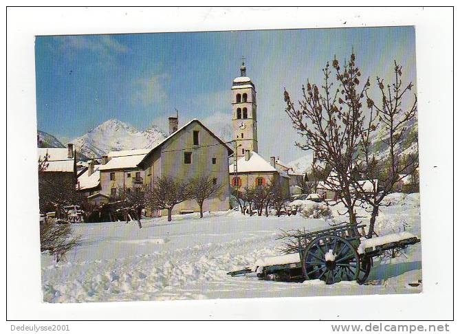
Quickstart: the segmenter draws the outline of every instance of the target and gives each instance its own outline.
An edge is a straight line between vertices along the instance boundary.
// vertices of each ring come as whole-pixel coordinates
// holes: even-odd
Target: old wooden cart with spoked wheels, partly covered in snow
[[[286,234],[289,254],[261,258],[252,267],[227,273],[256,273],[265,280],[342,280],[362,283],[369,276],[373,257],[419,243],[409,232],[366,238],[365,225],[342,225],[310,233]],[[294,242],[293,242],[294,241]]]

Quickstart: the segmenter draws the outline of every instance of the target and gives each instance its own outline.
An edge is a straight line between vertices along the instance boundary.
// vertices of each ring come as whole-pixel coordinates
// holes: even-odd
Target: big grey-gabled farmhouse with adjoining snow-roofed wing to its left
[[[148,186],[159,177],[190,180],[209,176],[221,185],[216,197],[204,202],[204,211],[230,208],[228,157],[232,149],[199,120],[191,120],[178,129],[178,117],[169,118],[170,135],[151,149],[112,151],[102,157],[102,164],[78,177],[79,190],[94,204],[108,203],[118,189]],[[199,211],[195,200],[175,205],[173,214]],[[166,210],[147,212],[151,216],[167,214]]]

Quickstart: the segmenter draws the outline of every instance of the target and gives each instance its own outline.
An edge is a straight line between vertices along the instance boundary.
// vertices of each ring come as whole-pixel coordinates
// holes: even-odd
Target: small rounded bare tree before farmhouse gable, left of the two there
[[[168,221],[175,205],[190,199],[190,183],[173,177],[155,179],[146,188],[145,203],[151,210],[168,210]]]

